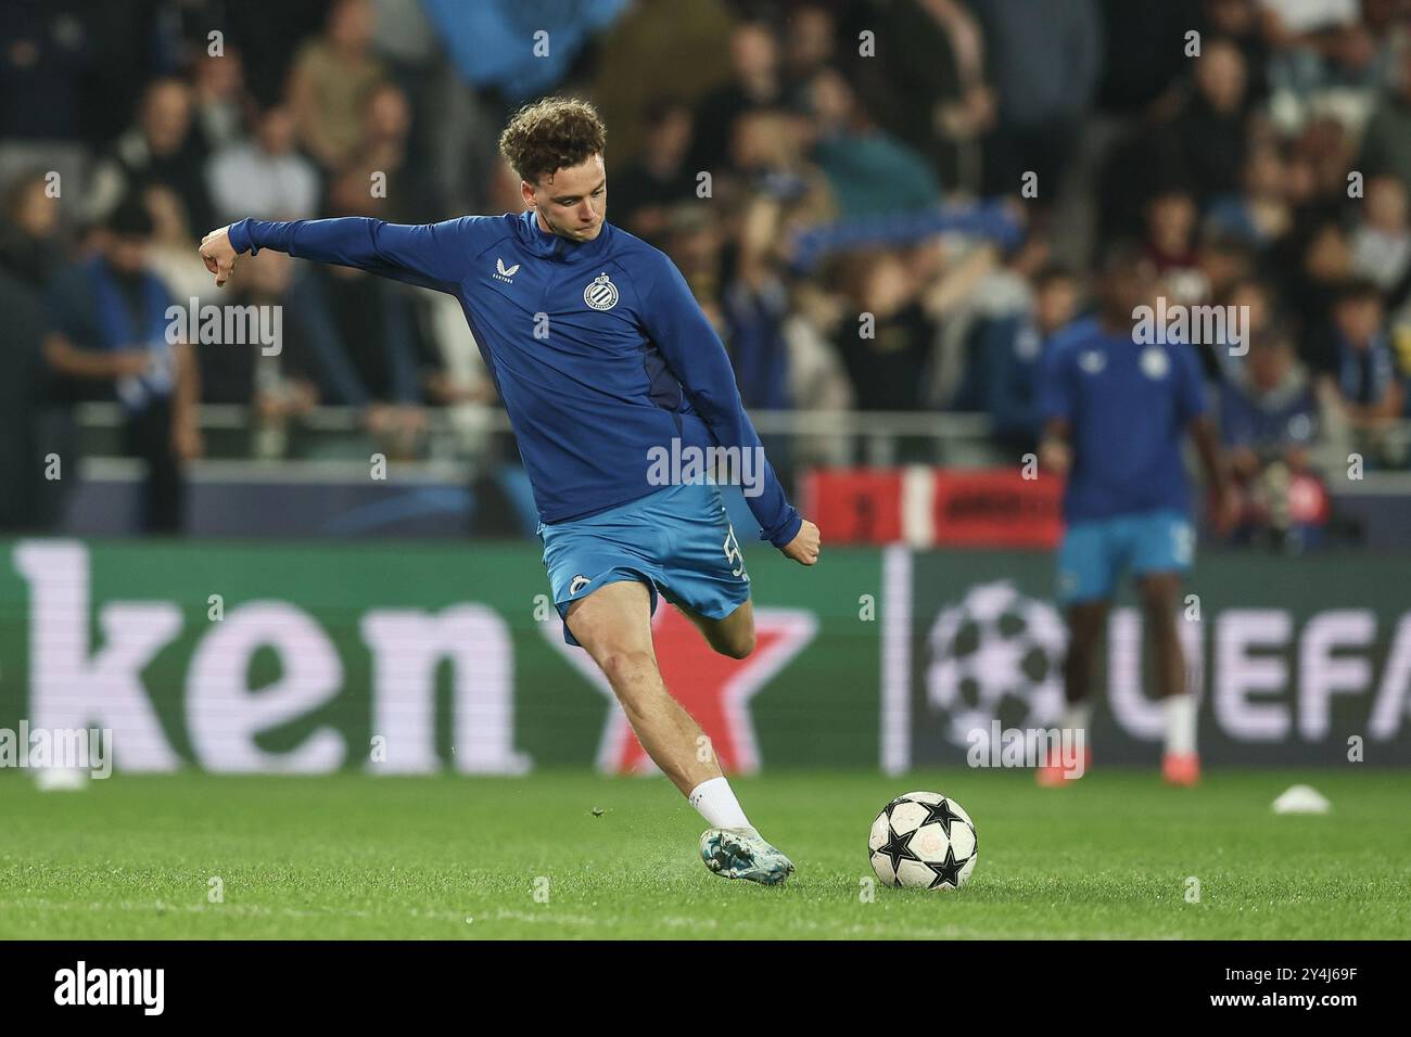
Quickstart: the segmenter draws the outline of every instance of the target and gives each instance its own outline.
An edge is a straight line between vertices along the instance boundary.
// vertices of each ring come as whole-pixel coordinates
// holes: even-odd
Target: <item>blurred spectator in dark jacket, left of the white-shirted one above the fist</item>
[[[93,171],[92,219],[102,222],[121,199],[161,185],[181,199],[189,226],[212,226],[205,155],[192,133],[190,103],[190,87],[179,79],[157,79],[147,87],[137,124]]]

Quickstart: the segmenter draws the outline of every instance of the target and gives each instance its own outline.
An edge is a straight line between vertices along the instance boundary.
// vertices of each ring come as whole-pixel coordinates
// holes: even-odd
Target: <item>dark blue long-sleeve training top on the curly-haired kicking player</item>
[[[679,457],[673,439],[682,450],[739,447],[742,464],[755,463],[746,451],[763,459],[725,347],[686,279],[665,253],[608,223],[577,243],[540,230],[533,212],[419,226],[241,220],[230,244],[454,295],[509,413],[545,523],[656,492],[653,450]],[[745,499],[761,539],[785,546],[801,519],[773,467],[741,471],[759,480]]]

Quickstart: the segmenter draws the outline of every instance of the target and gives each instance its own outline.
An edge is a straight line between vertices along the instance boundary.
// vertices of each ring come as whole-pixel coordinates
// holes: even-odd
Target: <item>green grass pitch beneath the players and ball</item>
[[[1295,782],[1332,813],[1274,815]],[[1060,790],[975,770],[735,786],[799,866],[783,887],[708,873],[704,824],[665,779],[117,775],[40,793],[8,772],[0,937],[1411,935],[1411,773],[1213,772],[1191,790],[1147,770]],[[916,789],[971,813],[979,863],[959,892],[878,886],[869,902],[868,825]]]

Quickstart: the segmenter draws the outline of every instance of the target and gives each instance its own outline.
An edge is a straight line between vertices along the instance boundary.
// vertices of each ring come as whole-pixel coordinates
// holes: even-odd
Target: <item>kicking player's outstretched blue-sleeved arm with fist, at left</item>
[[[470,255],[467,234],[476,217],[443,223],[384,223],[364,216],[334,220],[240,220],[202,238],[200,257],[224,285],[236,260],[272,248],[301,260],[357,267],[370,274],[453,292]]]

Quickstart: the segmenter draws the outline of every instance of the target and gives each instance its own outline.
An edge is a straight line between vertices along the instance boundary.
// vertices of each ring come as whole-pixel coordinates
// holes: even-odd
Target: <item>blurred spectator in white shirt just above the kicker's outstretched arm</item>
[[[317,214],[317,166],[299,154],[295,138],[293,114],[275,104],[255,117],[253,140],[212,157],[207,175],[217,223],[309,220]],[[213,227],[200,233],[207,230]]]

